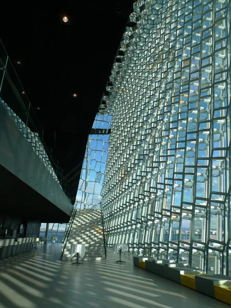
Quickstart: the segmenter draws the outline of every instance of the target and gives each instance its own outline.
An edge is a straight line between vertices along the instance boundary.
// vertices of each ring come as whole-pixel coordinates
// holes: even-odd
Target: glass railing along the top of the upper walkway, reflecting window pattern
[[[59,162],[52,156],[52,148],[49,148],[44,142],[45,132],[1,41],[0,102],[31,144],[37,156],[43,161],[54,180],[69,197],[69,183],[63,175]]]

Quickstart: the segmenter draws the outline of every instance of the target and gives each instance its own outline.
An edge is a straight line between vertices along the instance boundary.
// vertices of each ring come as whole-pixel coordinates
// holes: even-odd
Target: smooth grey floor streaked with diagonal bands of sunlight
[[[0,308],[223,308],[187,287],[126,263],[108,259],[71,265],[60,261],[61,244],[0,261]]]

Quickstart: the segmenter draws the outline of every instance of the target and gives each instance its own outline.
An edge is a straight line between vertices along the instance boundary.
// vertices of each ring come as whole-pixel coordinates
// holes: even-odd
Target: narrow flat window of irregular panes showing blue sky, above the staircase
[[[106,166],[111,115],[97,115],[88,137],[76,208],[101,208],[101,190]]]

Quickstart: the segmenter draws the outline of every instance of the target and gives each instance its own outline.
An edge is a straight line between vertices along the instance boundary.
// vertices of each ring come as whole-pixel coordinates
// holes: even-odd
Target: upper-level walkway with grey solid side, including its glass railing
[[[45,133],[0,40],[2,218],[69,221],[76,192],[45,144]]]

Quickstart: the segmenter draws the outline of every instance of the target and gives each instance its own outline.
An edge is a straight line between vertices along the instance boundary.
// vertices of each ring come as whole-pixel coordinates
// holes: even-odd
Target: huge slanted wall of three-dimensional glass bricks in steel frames
[[[107,85],[107,243],[231,275],[229,0],[134,4]],[[106,104],[105,104],[106,102]]]

